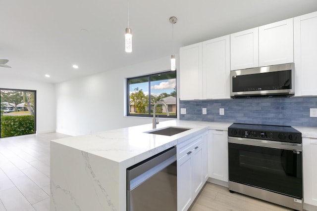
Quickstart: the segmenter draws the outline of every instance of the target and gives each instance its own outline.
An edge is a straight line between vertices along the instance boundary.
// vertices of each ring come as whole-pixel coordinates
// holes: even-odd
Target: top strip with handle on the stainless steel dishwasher
[[[127,190],[132,190],[176,161],[176,147],[169,148],[127,169]]]

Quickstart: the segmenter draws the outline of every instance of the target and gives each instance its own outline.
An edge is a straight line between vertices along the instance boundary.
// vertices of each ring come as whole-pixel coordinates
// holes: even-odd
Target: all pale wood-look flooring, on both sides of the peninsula
[[[0,138],[0,211],[50,210],[50,140],[60,133]],[[207,183],[190,211],[290,211]]]

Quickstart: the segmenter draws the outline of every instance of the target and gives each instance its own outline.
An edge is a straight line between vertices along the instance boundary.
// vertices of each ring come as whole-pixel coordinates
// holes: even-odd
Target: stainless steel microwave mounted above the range
[[[294,63],[234,70],[230,80],[231,97],[295,93]]]

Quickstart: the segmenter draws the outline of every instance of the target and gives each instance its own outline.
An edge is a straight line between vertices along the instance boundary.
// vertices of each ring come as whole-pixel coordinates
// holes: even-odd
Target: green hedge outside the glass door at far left
[[[34,116],[1,116],[0,137],[34,133]]]

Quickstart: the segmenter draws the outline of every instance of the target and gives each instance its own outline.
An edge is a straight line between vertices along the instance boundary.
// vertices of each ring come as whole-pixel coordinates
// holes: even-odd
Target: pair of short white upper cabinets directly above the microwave
[[[230,35],[231,70],[294,62],[293,18]]]

